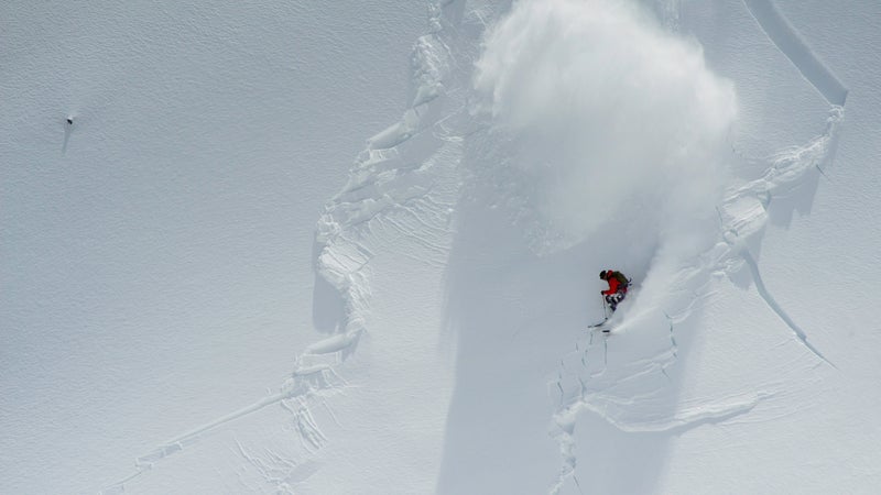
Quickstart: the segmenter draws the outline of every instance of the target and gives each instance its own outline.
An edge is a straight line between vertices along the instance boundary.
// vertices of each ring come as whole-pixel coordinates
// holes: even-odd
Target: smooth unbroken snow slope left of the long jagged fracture
[[[96,493],[278,392],[339,318],[316,219],[399,114],[424,24],[388,1],[0,6],[0,492]],[[140,490],[239,491],[205,453],[289,418],[257,415]]]

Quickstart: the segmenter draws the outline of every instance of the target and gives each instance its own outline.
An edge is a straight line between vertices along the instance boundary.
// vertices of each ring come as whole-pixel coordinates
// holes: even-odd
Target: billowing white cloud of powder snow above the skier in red
[[[719,201],[736,99],[697,43],[632,4],[520,1],[488,33],[475,86],[510,134],[507,166],[535,185],[527,201],[562,240],[546,249],[601,241],[613,224],[648,262],[707,230],[693,226]],[[696,241],[681,243],[687,254]]]

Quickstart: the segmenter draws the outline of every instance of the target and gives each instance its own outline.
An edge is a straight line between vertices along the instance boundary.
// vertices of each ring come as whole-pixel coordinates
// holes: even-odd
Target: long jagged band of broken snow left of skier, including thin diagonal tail
[[[301,440],[304,450],[301,457],[305,459],[290,459],[272,451],[261,458],[238,440],[236,452],[275,493],[294,493],[297,482],[318,471],[319,466],[309,457],[322,449],[328,438],[311,408],[320,404],[333,417],[325,398],[346,386],[338,369],[356,351],[368,329],[370,261],[378,252],[399,243],[402,237],[418,242],[438,257],[447,252],[447,227],[457,191],[445,186],[456,182],[450,166],[458,163],[461,140],[445,138],[443,123],[436,121],[436,112],[432,111],[433,102],[447,90],[444,79],[450,64],[445,4],[442,1],[429,6],[428,34],[414,44],[411,66],[415,90],[411,105],[399,122],[367,141],[367,148],[356,160],[347,184],[328,201],[317,222],[316,272],[339,293],[345,306],[342,321],[335,333],[303,351],[296,359],[295,370],[278,393],[195,427],[138,457],[137,472],[105,487],[101,493],[124,492],[128,483],[154,470],[171,455],[193,447],[205,433],[273,405],[280,405],[292,415],[292,430]],[[420,155],[424,151],[411,153],[416,154],[415,158],[409,156],[403,148],[424,131],[431,131],[427,134],[440,144],[435,145],[433,154],[425,160],[418,160],[424,158]],[[422,147],[426,147],[425,143]],[[442,182],[444,185],[438,185]]]

